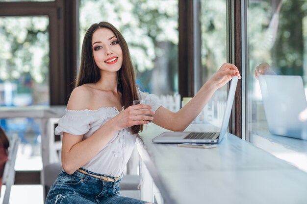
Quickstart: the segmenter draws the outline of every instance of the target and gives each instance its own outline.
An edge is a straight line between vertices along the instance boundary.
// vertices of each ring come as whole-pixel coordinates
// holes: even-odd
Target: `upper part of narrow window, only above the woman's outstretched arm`
[[[226,0],[201,0],[201,85],[227,57]]]

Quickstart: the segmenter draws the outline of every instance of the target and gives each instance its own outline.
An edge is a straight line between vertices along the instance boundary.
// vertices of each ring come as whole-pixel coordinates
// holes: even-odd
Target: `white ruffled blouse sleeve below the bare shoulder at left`
[[[75,136],[84,135],[90,129],[90,123],[93,122],[93,116],[88,111],[66,110],[66,114],[58,121],[55,128],[56,135],[69,133]]]

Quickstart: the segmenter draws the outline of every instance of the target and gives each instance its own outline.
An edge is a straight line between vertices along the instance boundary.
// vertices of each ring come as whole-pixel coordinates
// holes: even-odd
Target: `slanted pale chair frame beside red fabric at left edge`
[[[19,138],[13,137],[10,141],[10,146],[8,149],[8,160],[4,166],[2,184],[5,185],[5,193],[3,198],[3,204],[9,203],[9,198],[11,194],[11,187],[15,182],[15,161],[17,156]]]

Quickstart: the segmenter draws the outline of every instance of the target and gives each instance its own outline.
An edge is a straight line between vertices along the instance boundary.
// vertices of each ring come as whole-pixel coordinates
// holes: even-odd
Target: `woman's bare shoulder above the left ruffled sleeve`
[[[93,97],[93,93],[88,86],[76,87],[70,97],[67,104],[69,110],[84,110],[89,109],[90,99]]]

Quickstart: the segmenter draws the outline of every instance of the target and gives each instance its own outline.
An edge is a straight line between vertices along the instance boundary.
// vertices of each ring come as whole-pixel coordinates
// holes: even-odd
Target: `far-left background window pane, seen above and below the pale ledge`
[[[48,17],[0,18],[0,106],[49,105],[48,26]],[[21,138],[17,170],[41,169],[40,122],[12,118],[0,125]]]

